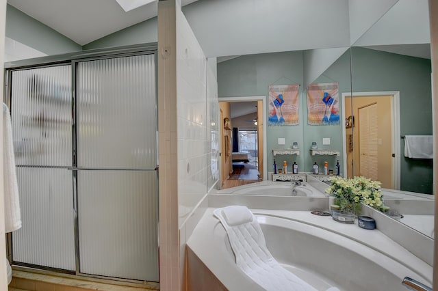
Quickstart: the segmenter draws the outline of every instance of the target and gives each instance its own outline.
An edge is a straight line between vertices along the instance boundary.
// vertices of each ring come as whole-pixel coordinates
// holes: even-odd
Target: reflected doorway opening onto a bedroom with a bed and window
[[[219,98],[221,120],[221,188],[266,180],[265,96]]]

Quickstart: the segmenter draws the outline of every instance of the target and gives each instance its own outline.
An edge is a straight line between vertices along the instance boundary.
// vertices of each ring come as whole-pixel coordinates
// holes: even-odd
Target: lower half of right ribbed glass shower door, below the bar
[[[157,173],[78,171],[80,272],[159,281]]]

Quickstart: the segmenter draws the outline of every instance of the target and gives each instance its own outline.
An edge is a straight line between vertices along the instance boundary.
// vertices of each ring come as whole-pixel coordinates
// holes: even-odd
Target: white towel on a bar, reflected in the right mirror
[[[404,156],[407,158],[433,158],[432,135],[406,135]]]

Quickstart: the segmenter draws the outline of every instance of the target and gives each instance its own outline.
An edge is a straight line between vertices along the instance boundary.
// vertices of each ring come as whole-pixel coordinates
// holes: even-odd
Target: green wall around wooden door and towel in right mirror
[[[400,91],[401,135],[433,134],[431,72],[430,59],[352,48],[353,92]],[[400,188],[432,193],[433,160],[405,158],[401,138],[400,149]]]

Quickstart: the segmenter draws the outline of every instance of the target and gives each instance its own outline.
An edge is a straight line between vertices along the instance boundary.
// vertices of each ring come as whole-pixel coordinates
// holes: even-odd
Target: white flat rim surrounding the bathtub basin
[[[229,256],[218,255],[225,250],[225,243],[217,241],[214,231],[216,227],[222,227],[220,222],[213,215],[216,208],[207,208],[201,221],[196,225],[192,236],[188,239],[187,246],[204,262],[218,279],[224,283],[229,290],[261,290],[249,277],[235,265],[234,260]],[[321,217],[311,214],[309,211],[288,211],[288,210],[263,210],[251,209],[257,216],[266,214],[274,217],[291,219],[313,225],[315,227],[328,230],[335,234],[340,234],[350,238],[355,242],[362,243],[371,249],[387,255],[392,260],[411,269],[413,272],[421,274],[427,281],[432,282],[433,267],[420,260],[394,240],[380,232],[379,230],[364,230],[355,224],[339,223],[332,217]],[[329,239],[329,238],[328,238]],[[406,274],[408,275],[408,274]],[[227,278],[226,280],[223,280]],[[401,282],[401,279],[400,279]],[[424,282],[428,284],[428,282]]]

